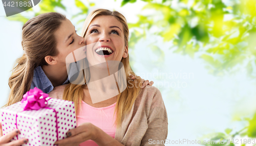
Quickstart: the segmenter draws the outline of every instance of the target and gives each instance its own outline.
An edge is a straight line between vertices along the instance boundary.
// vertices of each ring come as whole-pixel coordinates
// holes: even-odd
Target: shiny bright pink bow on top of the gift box
[[[24,110],[38,110],[48,104],[46,100],[47,97],[49,97],[48,94],[43,93],[40,89],[35,87],[23,95],[21,107]]]

